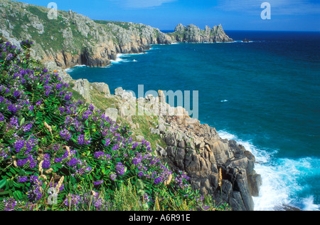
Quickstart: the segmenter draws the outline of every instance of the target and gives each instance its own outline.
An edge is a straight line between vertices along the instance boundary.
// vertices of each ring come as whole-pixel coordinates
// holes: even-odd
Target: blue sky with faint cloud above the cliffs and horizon
[[[20,0],[78,12],[91,19],[144,23],[172,30],[178,23],[200,28],[222,24],[225,30],[320,31],[319,0]],[[271,19],[262,20],[263,2]]]

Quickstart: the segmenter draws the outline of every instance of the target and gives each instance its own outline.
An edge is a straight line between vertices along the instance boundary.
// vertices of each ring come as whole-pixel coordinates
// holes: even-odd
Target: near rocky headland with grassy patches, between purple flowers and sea
[[[235,211],[252,211],[252,197],[259,196],[262,179],[255,172],[255,157],[233,140],[223,140],[214,127],[189,117],[184,108],[173,108],[164,96],[134,98],[122,88],[110,90],[106,84],[71,80],[73,89],[97,105],[95,95],[104,95],[100,104],[107,116],[129,125],[136,141],[151,142],[156,154],[176,171],[187,172],[193,189],[210,194],[216,204],[228,203]],[[102,96],[103,99],[103,96]],[[137,109],[144,112],[137,115]]]

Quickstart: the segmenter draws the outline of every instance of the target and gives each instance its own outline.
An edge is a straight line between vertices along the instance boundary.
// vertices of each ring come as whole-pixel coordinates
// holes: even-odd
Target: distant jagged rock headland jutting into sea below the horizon
[[[178,24],[174,33],[169,33],[169,36],[174,41],[187,42],[187,43],[217,43],[217,42],[232,42],[233,39],[229,38],[221,25],[214,26],[212,29],[206,26],[205,30],[201,30],[198,26],[193,24],[183,26]]]

